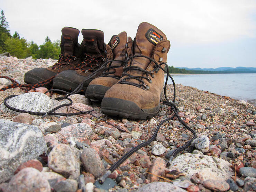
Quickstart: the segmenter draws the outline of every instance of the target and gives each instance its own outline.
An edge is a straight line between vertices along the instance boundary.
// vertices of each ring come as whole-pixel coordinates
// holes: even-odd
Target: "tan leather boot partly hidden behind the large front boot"
[[[90,82],[85,92],[86,98],[102,100],[106,91],[121,78],[125,60],[132,55],[132,39],[127,38],[125,31],[114,35],[109,45],[117,61],[108,63],[102,74]]]

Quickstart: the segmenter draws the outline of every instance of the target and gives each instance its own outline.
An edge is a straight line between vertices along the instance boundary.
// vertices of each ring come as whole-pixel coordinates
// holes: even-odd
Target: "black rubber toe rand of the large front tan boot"
[[[104,97],[101,102],[101,112],[111,116],[119,116],[129,119],[148,119],[157,115],[160,102],[157,107],[140,109],[136,103],[117,98]]]

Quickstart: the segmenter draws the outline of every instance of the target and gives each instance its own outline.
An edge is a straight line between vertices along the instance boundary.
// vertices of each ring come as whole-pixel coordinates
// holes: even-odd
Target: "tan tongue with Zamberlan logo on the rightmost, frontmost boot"
[[[155,46],[162,40],[166,40],[166,36],[161,30],[147,22],[141,23],[134,39],[134,55],[152,57]],[[131,65],[138,66],[146,70],[149,63],[150,61],[145,57],[135,57],[131,62]],[[134,76],[142,76],[143,72],[130,70],[130,74]],[[130,79],[129,81],[139,83],[136,79]]]

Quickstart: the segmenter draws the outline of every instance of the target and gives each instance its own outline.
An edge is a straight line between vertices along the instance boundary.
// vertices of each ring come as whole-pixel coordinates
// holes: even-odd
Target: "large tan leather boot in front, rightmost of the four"
[[[143,22],[138,27],[133,44],[134,56],[124,66],[118,83],[106,92],[101,109],[112,116],[151,118],[159,111],[164,83],[164,71],[159,70],[153,61],[158,65],[166,62],[170,41],[166,40],[161,30]],[[164,66],[161,64],[162,68]]]

